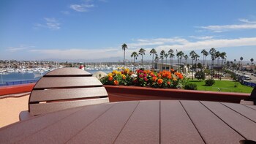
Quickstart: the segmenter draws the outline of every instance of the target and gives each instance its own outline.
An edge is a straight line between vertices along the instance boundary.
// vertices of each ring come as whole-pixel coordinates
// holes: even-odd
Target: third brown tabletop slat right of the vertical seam
[[[219,116],[222,121],[231,126],[241,135],[246,137],[248,140],[256,140],[256,124],[254,121],[240,115],[239,113],[230,110],[221,103],[217,102],[202,102],[206,105],[213,113]],[[242,122],[241,122],[242,121]]]

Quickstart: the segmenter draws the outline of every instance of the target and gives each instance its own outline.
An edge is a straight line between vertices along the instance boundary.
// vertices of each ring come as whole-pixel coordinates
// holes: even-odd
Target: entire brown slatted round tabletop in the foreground
[[[115,102],[40,115],[0,129],[2,143],[239,143],[256,141],[256,106]]]

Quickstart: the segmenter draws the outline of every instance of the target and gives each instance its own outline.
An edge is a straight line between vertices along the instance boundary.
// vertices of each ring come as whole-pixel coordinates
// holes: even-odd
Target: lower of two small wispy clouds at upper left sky
[[[47,29],[53,29],[53,30],[58,30],[61,29],[61,23],[59,23],[56,18],[44,18],[45,23],[36,23],[34,24],[34,29],[39,29],[40,27],[42,28],[47,28]]]

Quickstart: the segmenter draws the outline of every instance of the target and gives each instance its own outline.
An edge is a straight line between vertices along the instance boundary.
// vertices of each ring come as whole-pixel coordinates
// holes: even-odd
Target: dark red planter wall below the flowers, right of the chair
[[[149,100],[149,99],[183,99],[202,100],[214,102],[239,103],[241,99],[246,99],[250,94],[194,91],[172,88],[144,88],[138,86],[106,86],[110,102]]]

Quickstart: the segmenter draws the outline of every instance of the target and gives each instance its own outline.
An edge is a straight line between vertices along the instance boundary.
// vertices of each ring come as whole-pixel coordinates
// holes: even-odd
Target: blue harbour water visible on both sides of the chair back
[[[90,72],[91,74],[94,74],[95,72],[98,72],[99,70],[86,70],[87,72]],[[112,70],[101,70],[102,72],[109,73],[112,72]],[[44,75],[47,72],[44,73]],[[22,80],[39,80],[40,77],[35,77],[33,73],[18,73],[18,72],[12,72],[8,75],[0,75],[0,84],[8,83],[8,82],[15,82],[15,81],[22,81]]]

